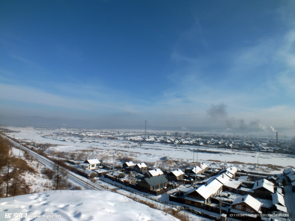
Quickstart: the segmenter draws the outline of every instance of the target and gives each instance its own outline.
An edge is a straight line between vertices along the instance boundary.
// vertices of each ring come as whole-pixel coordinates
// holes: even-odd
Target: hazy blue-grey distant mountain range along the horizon
[[[63,118],[45,118],[40,116],[28,116],[28,117],[8,117],[0,116],[0,126],[14,126],[14,127],[46,127],[46,128],[77,128],[77,129],[135,129],[144,130],[145,125],[106,125],[98,120],[87,121],[87,120],[72,120]],[[281,135],[295,135],[294,128],[275,128]],[[147,130],[154,131],[175,131],[175,132],[212,132],[212,133],[275,133],[273,131],[263,131],[260,128],[226,128],[226,127],[212,127],[212,126],[201,126],[201,127],[188,127],[175,126],[175,127],[164,127],[164,126],[150,126],[147,125]],[[151,132],[151,131],[149,131]]]

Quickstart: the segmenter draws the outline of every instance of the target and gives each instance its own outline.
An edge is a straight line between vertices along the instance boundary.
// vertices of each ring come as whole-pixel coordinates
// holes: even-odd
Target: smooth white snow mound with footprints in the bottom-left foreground
[[[58,221],[90,220],[178,220],[175,217],[123,195],[108,191],[58,190],[0,199],[0,217],[5,213],[30,215],[61,215],[48,218]],[[13,219],[20,220],[20,218]],[[34,220],[47,220],[37,218]]]

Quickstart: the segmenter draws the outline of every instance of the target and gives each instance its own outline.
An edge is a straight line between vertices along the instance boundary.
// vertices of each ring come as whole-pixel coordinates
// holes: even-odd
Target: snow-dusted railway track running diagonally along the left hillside
[[[24,146],[20,145],[19,143],[13,141],[12,139],[10,139],[10,138],[2,135],[2,134],[1,134],[1,136],[3,138],[7,139],[8,141],[10,141],[11,143],[13,143],[16,147],[19,147],[19,148],[22,148],[23,150],[26,150],[32,157],[34,157],[37,161],[44,164],[45,166],[50,167],[50,168],[54,167],[54,162],[51,161],[50,159],[47,159],[46,157],[41,156],[40,154],[37,154],[36,152],[28,149],[27,147],[24,147]],[[95,183],[89,184],[88,181],[84,180],[85,179],[84,177],[81,177],[80,175],[75,174],[72,171],[69,171],[68,169],[63,168],[63,171],[67,174],[67,176],[70,179],[73,179],[75,182],[81,184],[83,187],[90,188],[90,189],[93,189],[93,190],[107,190],[106,188],[101,187],[101,186],[99,186],[99,185],[97,185]]]

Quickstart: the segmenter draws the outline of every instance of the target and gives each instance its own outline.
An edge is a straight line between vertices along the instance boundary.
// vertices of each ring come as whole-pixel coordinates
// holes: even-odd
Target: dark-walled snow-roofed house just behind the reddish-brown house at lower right
[[[254,183],[252,190],[257,197],[271,198],[271,194],[274,193],[274,184],[267,179],[260,179]]]

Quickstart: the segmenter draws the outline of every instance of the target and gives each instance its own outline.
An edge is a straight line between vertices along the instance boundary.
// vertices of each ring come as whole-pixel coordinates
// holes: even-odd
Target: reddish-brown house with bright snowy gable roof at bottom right
[[[250,195],[240,196],[230,205],[230,213],[261,214],[261,202]]]

